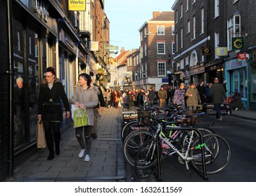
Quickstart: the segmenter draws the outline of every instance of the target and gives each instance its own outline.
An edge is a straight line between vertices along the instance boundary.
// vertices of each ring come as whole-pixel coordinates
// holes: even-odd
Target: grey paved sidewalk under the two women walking
[[[122,109],[100,111],[98,138],[92,139],[89,162],[78,158],[81,149],[71,126],[61,134],[60,155],[46,160],[48,149],[36,149],[15,168],[15,181],[125,181],[121,120]]]

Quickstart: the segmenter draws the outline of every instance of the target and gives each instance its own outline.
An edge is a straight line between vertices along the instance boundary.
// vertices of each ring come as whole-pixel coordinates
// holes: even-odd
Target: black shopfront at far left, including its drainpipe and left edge
[[[13,156],[35,144],[39,83],[46,66],[56,67],[56,18],[60,15],[44,0],[6,1],[0,11],[1,23],[6,24],[1,29],[7,36],[1,36],[1,51],[5,52],[0,59],[0,82],[5,86],[0,100],[1,181],[10,177]]]

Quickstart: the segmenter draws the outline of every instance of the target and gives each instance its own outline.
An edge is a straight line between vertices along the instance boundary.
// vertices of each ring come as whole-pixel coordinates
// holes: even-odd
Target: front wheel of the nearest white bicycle
[[[159,152],[157,152],[157,148],[159,149]],[[155,170],[158,168],[158,155],[161,158],[162,147],[160,142],[157,144],[154,139],[145,141],[143,146],[139,149],[139,152],[136,154],[134,162],[135,173],[140,179],[147,179],[154,174]]]

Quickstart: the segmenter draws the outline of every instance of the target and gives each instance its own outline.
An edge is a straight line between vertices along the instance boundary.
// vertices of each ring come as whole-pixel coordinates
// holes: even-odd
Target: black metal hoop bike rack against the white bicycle
[[[203,134],[197,130],[195,127],[171,127],[171,130],[173,131],[188,131],[188,130],[194,130],[196,132],[198,132],[199,134],[199,137],[200,137],[200,141],[201,141],[201,144],[203,144]],[[159,142],[159,137],[156,138],[156,142],[158,144]],[[159,146],[157,145],[157,152],[159,152]],[[196,171],[198,172],[198,174],[203,177],[204,180],[208,180],[208,177],[206,175],[206,167],[205,167],[205,150],[204,148],[201,148],[201,155],[202,155],[202,164],[203,164],[203,174],[201,174],[199,171]],[[158,181],[162,181],[162,174],[161,174],[161,166],[160,166],[160,154],[158,153],[157,155],[157,167],[158,167]]]

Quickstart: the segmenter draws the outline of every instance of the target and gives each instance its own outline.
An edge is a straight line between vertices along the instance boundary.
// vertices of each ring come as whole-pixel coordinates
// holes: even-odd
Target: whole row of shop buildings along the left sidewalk
[[[56,76],[70,99],[79,73],[90,73],[96,78],[90,71],[106,64],[104,57],[100,59],[96,55],[103,56],[104,51],[91,51],[90,42],[92,35],[98,44],[109,41],[109,22],[103,4],[103,0],[86,4],[86,10],[95,10],[97,20],[91,20],[93,11],[82,18],[84,12],[69,10],[68,1],[64,0],[8,0],[1,6],[0,24],[4,33],[0,46],[3,51],[0,56],[0,181],[13,179],[15,155],[36,144],[37,97],[46,67],[56,69]],[[98,31],[93,30],[96,23]],[[20,78],[22,91],[18,90],[16,80]],[[64,109],[61,129],[71,123],[71,118],[65,118]]]

